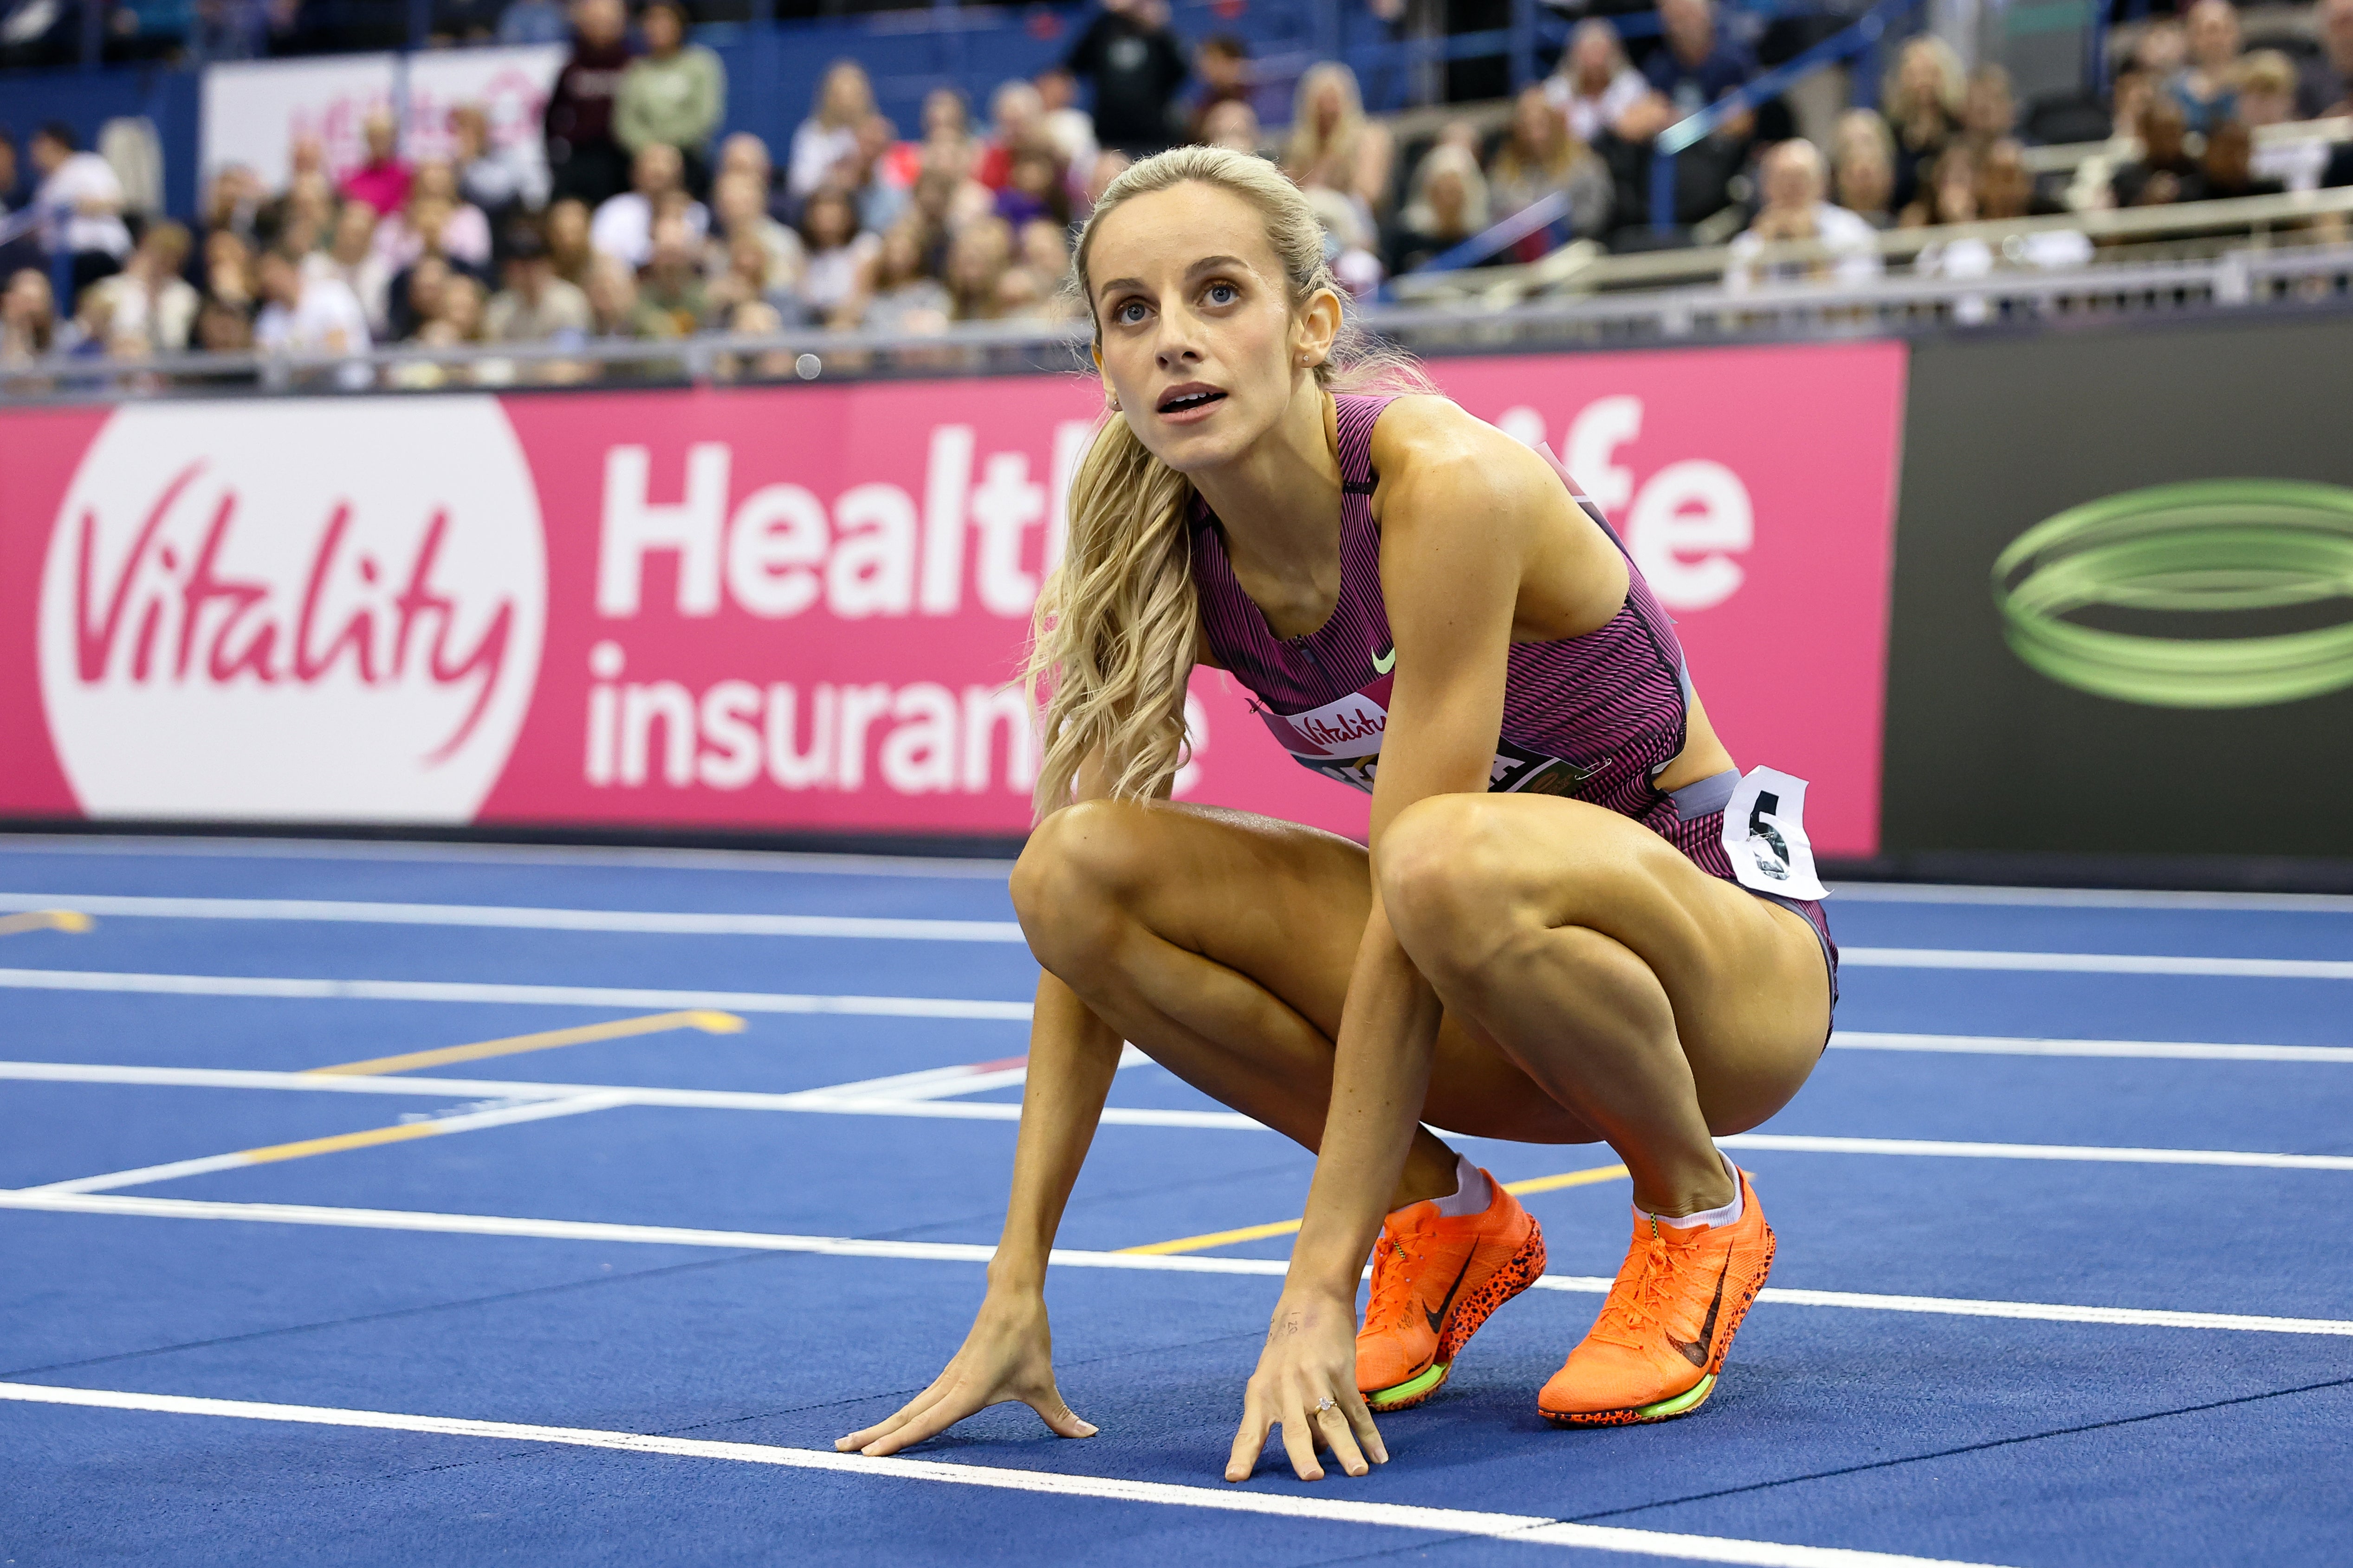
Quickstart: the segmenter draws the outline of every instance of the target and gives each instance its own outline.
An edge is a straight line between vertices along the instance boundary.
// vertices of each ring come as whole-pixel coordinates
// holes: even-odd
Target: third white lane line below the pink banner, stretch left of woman
[[[289,980],[271,976],[146,976],[94,969],[0,969],[0,987],[296,1001],[518,1001],[532,1006],[720,1009],[727,1013],[849,1013],[861,1018],[988,1018],[1028,1023],[1028,1001],[958,997],[802,997],[621,985],[482,985],[471,980]]]

